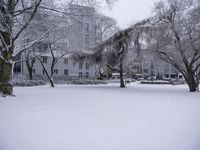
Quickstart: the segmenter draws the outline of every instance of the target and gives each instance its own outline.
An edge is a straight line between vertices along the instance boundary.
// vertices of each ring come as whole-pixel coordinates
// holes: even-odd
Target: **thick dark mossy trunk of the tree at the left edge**
[[[7,6],[0,7],[1,18],[0,21],[1,28],[1,46],[0,46],[0,94],[12,95],[13,86],[11,83],[12,79],[12,53],[14,50],[14,43],[12,39],[12,26],[13,26],[13,12],[14,12],[14,2],[8,1]],[[2,3],[2,2],[1,2]]]

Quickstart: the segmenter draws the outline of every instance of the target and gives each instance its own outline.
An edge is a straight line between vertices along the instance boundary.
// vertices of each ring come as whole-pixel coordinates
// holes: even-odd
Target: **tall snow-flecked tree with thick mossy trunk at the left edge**
[[[0,93],[3,95],[13,93],[11,75],[15,42],[30,24],[41,2],[42,0],[35,0],[25,6],[24,0],[0,1]],[[25,12],[29,13],[28,19],[20,22],[19,28],[15,28],[21,21],[21,14]]]

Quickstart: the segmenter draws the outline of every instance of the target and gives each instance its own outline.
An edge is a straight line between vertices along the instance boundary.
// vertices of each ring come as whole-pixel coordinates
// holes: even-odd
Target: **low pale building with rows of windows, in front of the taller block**
[[[60,58],[62,53],[55,52],[54,55],[56,58]],[[42,58],[42,62],[47,68],[47,71],[50,72],[51,70],[51,63],[52,63],[52,56],[51,53],[44,53],[40,56]],[[24,66],[24,72],[27,72],[27,68]],[[57,79],[71,79],[71,78],[95,78],[95,66],[90,66],[87,62],[79,62],[74,64],[73,60],[70,59],[69,55],[66,54],[63,56],[58,63],[54,67],[54,77]],[[33,67],[33,75],[41,75],[46,77],[45,71],[43,67],[41,67],[41,63],[38,59],[34,60],[34,67]]]

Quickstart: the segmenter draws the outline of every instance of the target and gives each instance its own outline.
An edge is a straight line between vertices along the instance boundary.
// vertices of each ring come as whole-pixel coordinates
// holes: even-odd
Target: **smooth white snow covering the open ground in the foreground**
[[[15,88],[0,150],[200,150],[200,93],[186,85]]]

